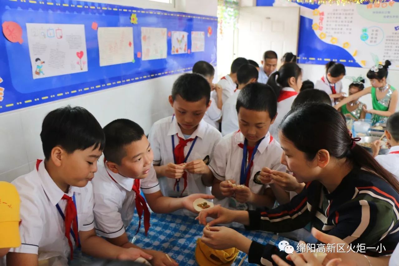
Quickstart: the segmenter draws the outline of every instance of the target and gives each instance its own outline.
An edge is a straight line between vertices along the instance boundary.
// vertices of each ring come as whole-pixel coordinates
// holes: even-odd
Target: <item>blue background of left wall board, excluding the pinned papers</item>
[[[130,23],[131,14],[137,15],[137,24]],[[23,39],[19,44],[9,42],[3,34],[0,36],[0,77],[3,79],[0,87],[4,88],[0,113],[182,73],[192,69],[198,60],[216,66],[216,17],[68,0],[0,0],[0,16],[1,24],[17,22],[22,27]],[[132,27],[134,63],[100,67],[97,30],[91,28],[92,22],[97,22],[98,27]],[[88,71],[33,79],[26,23],[84,24]],[[141,53],[141,27],[188,32],[188,48],[191,48],[191,31],[205,32],[205,50],[172,55],[168,35],[167,58],[143,61],[137,56]]]

